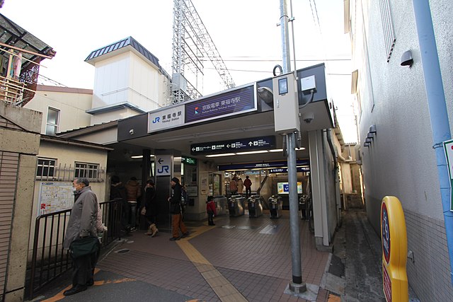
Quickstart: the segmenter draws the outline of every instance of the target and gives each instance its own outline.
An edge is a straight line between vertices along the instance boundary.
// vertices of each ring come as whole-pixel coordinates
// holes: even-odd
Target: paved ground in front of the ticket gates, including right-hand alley
[[[95,284],[65,297],[69,274],[35,301],[384,301],[379,237],[362,211],[348,211],[333,253],[316,250],[301,221],[302,279],[310,295],[285,294],[292,279],[289,217],[216,218],[216,226],[187,223],[190,237],[169,241],[132,233],[101,257]]]

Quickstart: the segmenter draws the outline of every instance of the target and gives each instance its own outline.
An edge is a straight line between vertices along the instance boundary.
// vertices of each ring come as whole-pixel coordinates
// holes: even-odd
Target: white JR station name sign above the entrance
[[[148,113],[148,133],[184,124],[184,105]]]

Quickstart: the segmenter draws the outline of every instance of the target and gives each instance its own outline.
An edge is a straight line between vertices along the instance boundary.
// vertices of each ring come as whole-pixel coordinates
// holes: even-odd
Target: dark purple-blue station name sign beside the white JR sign
[[[185,104],[185,124],[256,110],[255,85]]]

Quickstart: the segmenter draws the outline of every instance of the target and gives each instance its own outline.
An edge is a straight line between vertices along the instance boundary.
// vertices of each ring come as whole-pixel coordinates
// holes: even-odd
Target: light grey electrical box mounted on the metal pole
[[[294,72],[273,78],[275,132],[287,134],[300,131],[299,98]]]

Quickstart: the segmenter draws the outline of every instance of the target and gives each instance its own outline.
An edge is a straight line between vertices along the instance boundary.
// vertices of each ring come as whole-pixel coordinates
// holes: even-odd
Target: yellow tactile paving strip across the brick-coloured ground
[[[242,294],[225,278],[220,274],[220,272],[209,262],[200,252],[195,249],[195,247],[189,243],[191,238],[198,236],[206,231],[209,231],[212,227],[209,226],[200,226],[193,233],[191,233],[190,238],[184,238],[179,240],[178,246],[189,258],[190,262],[195,265],[198,272],[202,277],[207,281],[207,284],[210,284],[214,293],[219,297],[220,301],[224,302],[239,302],[247,301],[247,299],[242,296]]]

